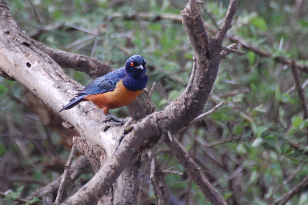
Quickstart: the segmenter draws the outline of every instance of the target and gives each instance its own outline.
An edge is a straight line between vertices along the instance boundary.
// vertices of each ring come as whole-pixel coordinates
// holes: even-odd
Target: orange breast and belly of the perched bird
[[[102,94],[87,95],[84,99],[93,102],[96,107],[103,109],[103,112],[108,114],[109,109],[122,107],[133,102],[141,92],[142,90],[135,92],[127,90],[121,80],[116,84],[114,90]]]

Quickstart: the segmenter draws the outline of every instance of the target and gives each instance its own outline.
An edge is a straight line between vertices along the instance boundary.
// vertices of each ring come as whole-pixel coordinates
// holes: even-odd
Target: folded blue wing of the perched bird
[[[102,77],[96,78],[76,95],[94,95],[114,90],[117,82],[119,82],[124,76],[124,68],[114,70]]]

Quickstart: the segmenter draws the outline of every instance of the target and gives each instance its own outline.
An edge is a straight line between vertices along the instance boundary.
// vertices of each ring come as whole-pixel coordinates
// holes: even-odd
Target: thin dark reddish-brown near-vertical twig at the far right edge
[[[302,104],[302,110],[304,112],[304,118],[307,119],[308,118],[307,101],[306,101],[304,89],[302,88],[302,84],[301,84],[300,79],[299,79],[298,70],[295,67],[295,61],[294,60],[292,60],[292,62],[291,62],[291,70],[292,70],[292,74],[293,74],[293,77],[294,77],[295,87],[298,91],[299,101]]]

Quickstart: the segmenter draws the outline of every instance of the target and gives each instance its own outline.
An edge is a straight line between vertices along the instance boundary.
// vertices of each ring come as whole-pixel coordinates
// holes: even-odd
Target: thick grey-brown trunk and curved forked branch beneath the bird
[[[136,173],[136,166],[132,166],[132,162],[139,153],[156,144],[161,135],[180,131],[202,113],[217,76],[222,58],[221,43],[231,26],[236,5],[236,0],[230,1],[225,22],[217,38],[212,38],[205,29],[198,2],[192,0],[186,5],[182,11],[182,17],[184,29],[194,50],[193,70],[184,93],[163,111],[144,117],[147,112],[155,110],[149,106],[150,109],[146,109],[136,117],[136,119],[140,116],[144,117],[140,122],[127,123],[122,127],[115,127],[112,123],[102,125],[105,115],[95,109],[90,102],[81,103],[71,110],[60,113],[79,132],[80,138],[75,139],[75,145],[87,157],[96,172],[94,177],[65,204],[92,204],[102,195],[110,195],[110,187],[125,169]],[[14,78],[54,111],[59,111],[83,86],[63,72],[54,60],[59,56],[48,54],[18,29],[3,0],[0,1],[0,15],[0,38],[2,39],[0,70],[4,73],[2,76]],[[81,61],[83,62],[83,59]],[[66,66],[73,67],[72,64]],[[148,102],[136,103],[144,105]],[[176,151],[172,150],[172,152],[177,155]],[[127,172],[124,172],[123,176],[128,177]],[[132,176],[134,177],[135,174]],[[201,181],[197,185],[211,203],[225,204],[214,189],[214,191],[209,190],[208,187],[211,185],[203,175],[200,178],[196,178],[198,176],[195,175],[191,177],[193,181]],[[207,187],[204,189],[202,186],[205,182]],[[136,199],[136,194],[133,193],[136,188],[133,184],[134,182],[128,184],[131,186],[131,193],[126,192],[127,195],[132,196],[131,203]]]

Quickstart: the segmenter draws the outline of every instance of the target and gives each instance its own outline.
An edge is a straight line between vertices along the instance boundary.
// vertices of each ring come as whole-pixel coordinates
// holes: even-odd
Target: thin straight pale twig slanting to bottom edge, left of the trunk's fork
[[[68,177],[69,171],[71,169],[72,161],[73,161],[76,153],[77,153],[77,148],[75,147],[75,145],[73,145],[72,150],[71,150],[71,154],[68,157],[67,163],[65,165],[65,170],[64,170],[61,182],[60,182],[57,198],[56,198],[55,203],[54,203],[55,205],[60,204],[61,201],[62,201],[62,196],[63,196],[63,192],[64,192],[64,186],[65,186],[65,183],[67,181],[67,177]]]

